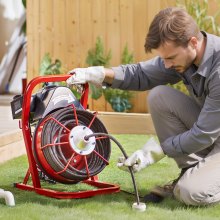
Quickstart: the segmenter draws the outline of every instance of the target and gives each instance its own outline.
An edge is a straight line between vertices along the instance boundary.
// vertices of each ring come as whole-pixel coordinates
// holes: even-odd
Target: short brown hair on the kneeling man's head
[[[191,37],[201,39],[195,20],[182,8],[166,8],[153,19],[145,39],[145,51],[151,52],[167,41],[186,47]]]

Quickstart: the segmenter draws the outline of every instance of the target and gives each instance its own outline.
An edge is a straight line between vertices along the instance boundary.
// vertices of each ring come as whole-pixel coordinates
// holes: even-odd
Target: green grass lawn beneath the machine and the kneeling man
[[[144,135],[114,135],[128,154],[139,149],[146,141]],[[133,185],[129,173],[116,167],[119,149],[112,144],[110,165],[100,174],[102,181],[117,183],[121,189],[133,192]],[[13,187],[14,182],[22,182],[27,171],[26,156],[8,161],[0,166],[0,188],[10,190],[15,196],[15,207],[7,207],[0,199],[0,219],[32,220],[32,219],[181,219],[181,220],[207,220],[219,219],[220,205],[211,207],[187,207],[175,199],[165,199],[160,204],[147,204],[143,213],[133,211],[131,206],[135,196],[124,192],[94,196],[86,199],[59,200],[40,196],[34,192],[27,192]],[[135,174],[138,191],[145,195],[158,184],[167,183],[174,179],[179,170],[173,160],[165,158],[147,169]],[[51,185],[50,185],[51,186]],[[62,185],[56,184],[66,190],[79,190],[83,184]]]

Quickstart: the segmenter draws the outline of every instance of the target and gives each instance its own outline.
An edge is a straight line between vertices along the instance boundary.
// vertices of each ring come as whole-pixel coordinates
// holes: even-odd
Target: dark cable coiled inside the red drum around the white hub
[[[68,143],[62,144],[63,142],[68,142],[69,137],[65,128],[71,130],[77,125],[89,126],[94,117],[92,113],[84,110],[76,110],[76,114],[77,118],[74,117],[72,107],[63,108],[51,113],[39,123],[34,135],[33,151],[35,159],[40,168],[57,182],[77,183],[86,180],[91,176],[95,176],[106,167],[106,161],[110,158],[110,140],[109,138],[104,138],[96,140],[95,151],[105,160],[93,152],[86,156],[89,174],[84,163],[84,156],[77,154],[75,154],[72,160],[73,162],[69,163],[68,167],[65,169],[71,155],[74,153]],[[61,124],[63,126],[61,126]],[[42,126],[43,128],[40,132],[39,129]],[[93,120],[90,129],[94,133],[99,131],[107,133],[106,128],[97,117]],[[39,136],[41,137],[39,138]],[[40,141],[37,141],[37,138],[39,138]],[[44,146],[47,146],[48,144],[50,146],[44,148]],[[42,157],[42,153],[44,157]],[[74,163],[74,161],[76,162]],[[48,166],[57,172],[57,174],[48,172]],[[65,171],[60,172],[64,169]],[[60,173],[58,174],[58,172]]]

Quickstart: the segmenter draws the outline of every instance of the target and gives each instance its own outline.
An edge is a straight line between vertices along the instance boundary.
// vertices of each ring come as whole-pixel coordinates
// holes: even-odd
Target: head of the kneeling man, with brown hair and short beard
[[[166,8],[153,19],[145,51],[155,49],[166,68],[184,72],[198,58],[202,33],[194,19],[181,8]]]

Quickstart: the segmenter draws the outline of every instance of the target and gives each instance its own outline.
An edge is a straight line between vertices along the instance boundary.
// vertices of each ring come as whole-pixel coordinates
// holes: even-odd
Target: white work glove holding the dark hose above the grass
[[[161,146],[154,138],[150,138],[142,149],[135,151],[127,159],[120,157],[117,166],[122,170],[128,170],[127,168],[131,166],[134,172],[139,172],[163,157],[165,157],[165,154]]]

